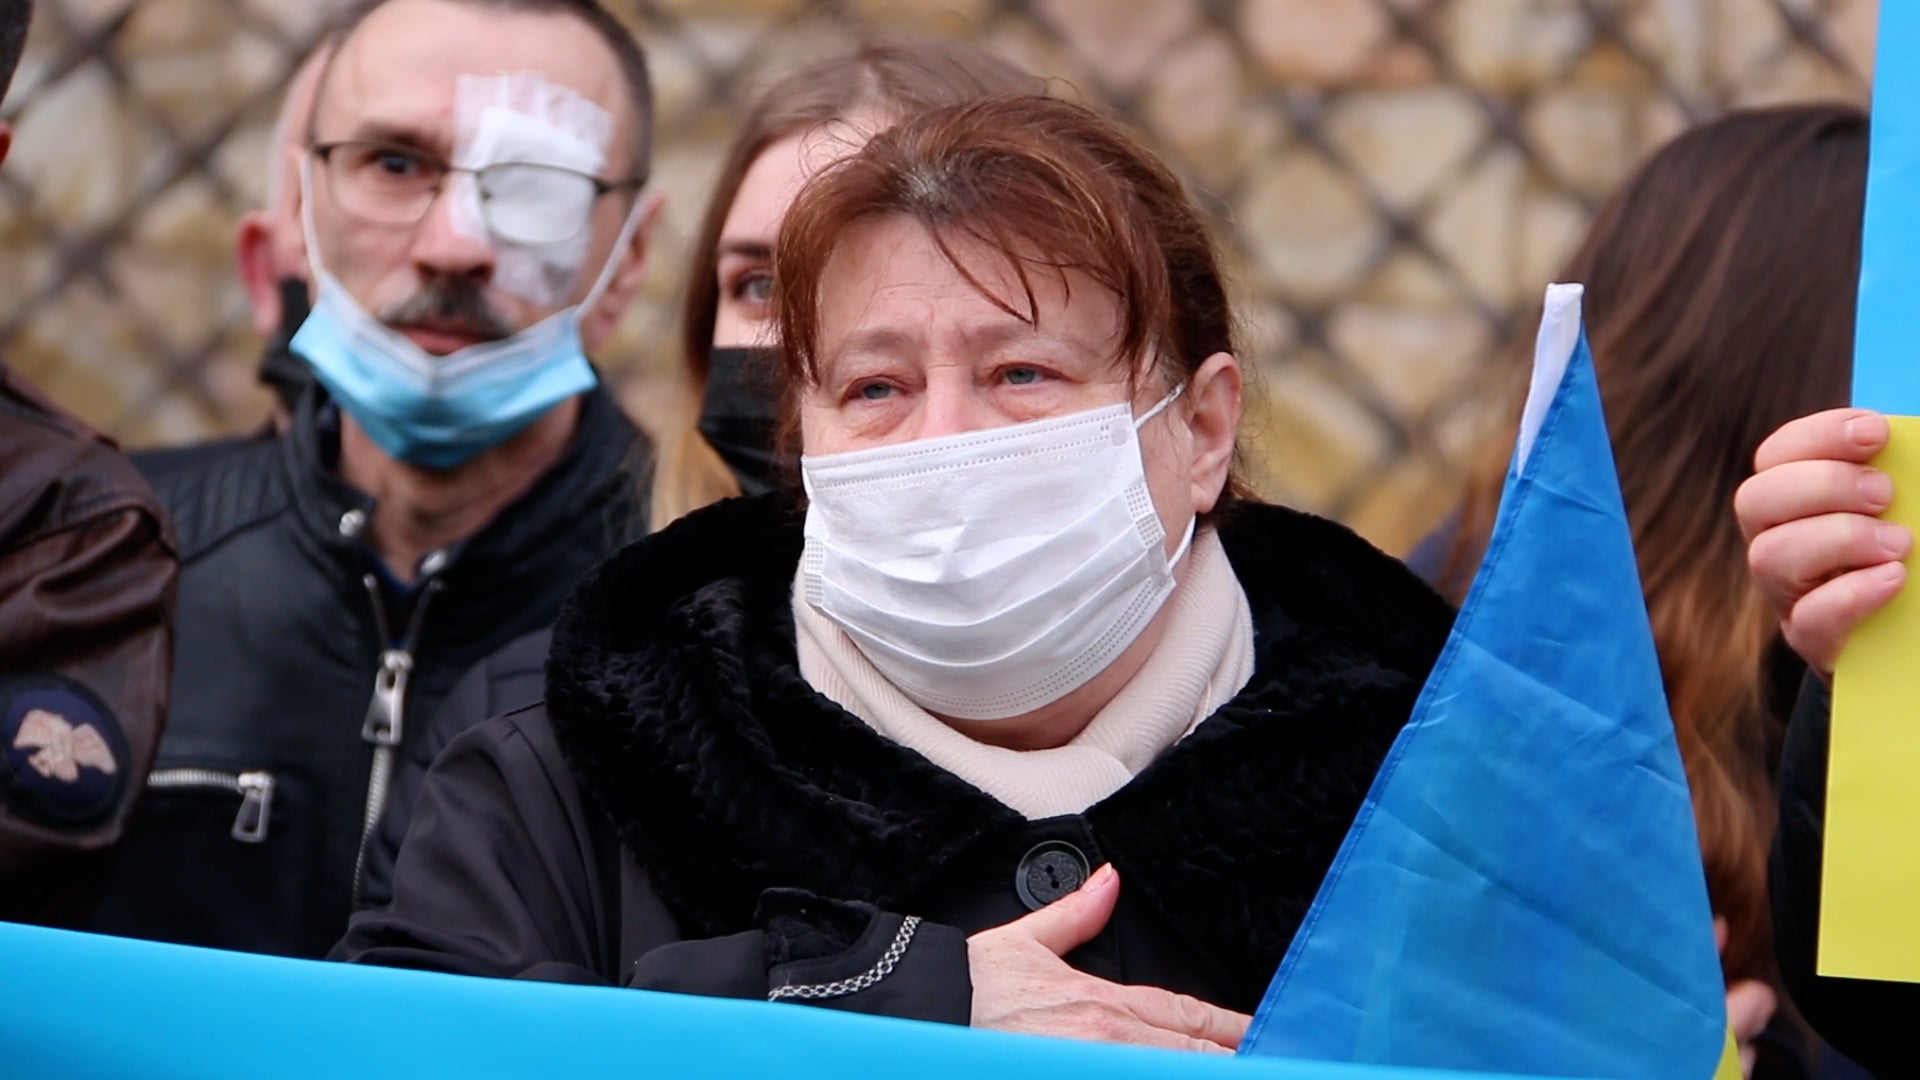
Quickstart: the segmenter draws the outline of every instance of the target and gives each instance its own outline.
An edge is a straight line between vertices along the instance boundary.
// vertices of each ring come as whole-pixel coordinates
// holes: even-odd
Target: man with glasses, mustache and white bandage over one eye
[[[588,356],[639,288],[651,90],[595,0],[371,0],[294,169],[317,386],[159,482],[175,700],[94,928],[319,957],[455,678],[645,528]]]

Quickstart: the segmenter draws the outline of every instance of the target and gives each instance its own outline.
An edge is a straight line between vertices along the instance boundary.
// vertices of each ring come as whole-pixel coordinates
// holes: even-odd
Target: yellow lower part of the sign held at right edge
[[[1920,534],[1920,417],[1887,417],[1882,515]],[[1820,974],[1920,982],[1920,582],[1860,623],[1834,669]]]

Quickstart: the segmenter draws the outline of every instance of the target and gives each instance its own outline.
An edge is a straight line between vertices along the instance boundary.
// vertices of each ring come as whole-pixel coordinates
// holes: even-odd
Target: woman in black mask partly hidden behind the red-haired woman
[[[653,528],[724,498],[781,486],[780,361],[768,298],[774,236],[801,186],[912,113],[1039,92],[1041,79],[973,46],[876,38],[801,67],[760,94],[720,165],[693,244],[682,307],[682,356],[693,394],[689,415],[657,438],[647,517]],[[397,771],[386,817],[369,838],[363,905],[390,899],[394,857],[434,755],[480,721],[540,701],[549,644],[545,630],[528,634],[447,694],[417,757]]]

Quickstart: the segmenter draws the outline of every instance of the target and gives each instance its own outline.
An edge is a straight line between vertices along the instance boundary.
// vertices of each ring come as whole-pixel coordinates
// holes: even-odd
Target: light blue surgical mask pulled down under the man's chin
[[[303,184],[309,175],[303,169]],[[309,194],[303,208],[311,206]],[[313,365],[315,379],[390,457],[422,469],[453,469],[593,386],[580,317],[605,292],[639,213],[636,202],[586,300],[507,338],[434,356],[369,315],[321,267],[307,211],[303,225],[319,296],[290,348]]]

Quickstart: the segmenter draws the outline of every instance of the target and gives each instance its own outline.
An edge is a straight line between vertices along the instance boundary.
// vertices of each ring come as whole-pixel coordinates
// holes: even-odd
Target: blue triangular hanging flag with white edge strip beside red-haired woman
[[[1551,286],[1486,559],[1242,1053],[1707,1080],[1726,990],[1580,329]]]

